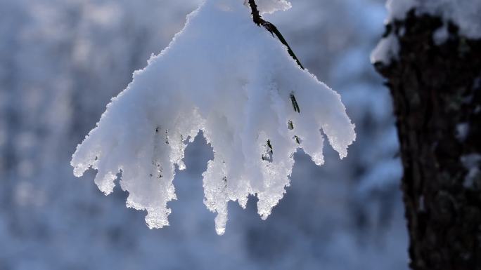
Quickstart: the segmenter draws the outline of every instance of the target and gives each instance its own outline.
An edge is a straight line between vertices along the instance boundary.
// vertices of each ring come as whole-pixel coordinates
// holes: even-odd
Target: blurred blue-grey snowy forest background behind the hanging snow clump
[[[119,187],[72,175],[77,143],[110,98],[160,53],[200,0],[0,0],[0,269],[406,269],[402,169],[389,91],[369,55],[381,0],[293,0],[265,16],[304,67],[342,95],[356,124],[349,155],[302,152],[266,221],[255,200],[229,204],[214,231],[198,136],[177,173],[170,227],[149,230]]]

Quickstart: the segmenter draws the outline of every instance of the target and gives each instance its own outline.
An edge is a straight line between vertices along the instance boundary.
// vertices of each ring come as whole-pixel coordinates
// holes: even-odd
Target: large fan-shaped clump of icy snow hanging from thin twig
[[[225,231],[227,203],[245,208],[249,194],[267,218],[286,192],[298,148],[321,165],[321,130],[340,158],[355,139],[340,95],[300,69],[252,22],[243,1],[207,0],[160,55],[134,72],[71,164],[76,176],[98,170],[95,182],[105,194],[122,173],[127,206],[147,210],[148,227],[160,228],[176,198],[175,166],[185,168],[184,149],[199,130],[214,151],[203,187],[205,205],[217,212],[217,234]]]

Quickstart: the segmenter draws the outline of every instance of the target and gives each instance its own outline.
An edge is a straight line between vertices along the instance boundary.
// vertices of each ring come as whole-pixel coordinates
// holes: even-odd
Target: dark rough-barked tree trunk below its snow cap
[[[410,266],[481,269],[481,40],[411,11],[387,25],[399,55],[375,67],[392,93],[401,145]]]

